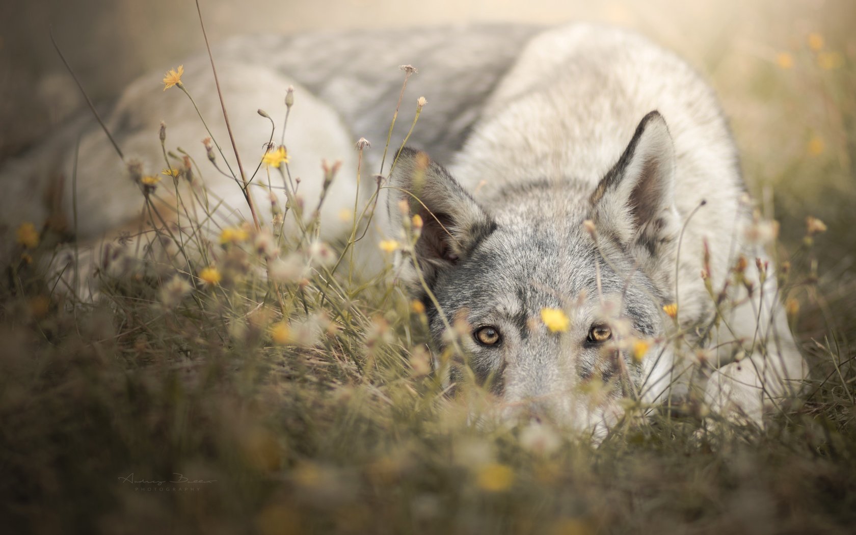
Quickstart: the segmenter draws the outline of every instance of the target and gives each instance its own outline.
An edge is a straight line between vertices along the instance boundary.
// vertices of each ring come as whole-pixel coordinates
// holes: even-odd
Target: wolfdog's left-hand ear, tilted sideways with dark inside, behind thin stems
[[[441,271],[458,264],[496,228],[493,219],[449,171],[432,162],[425,152],[409,147],[401,149],[389,186],[390,232],[398,233],[404,227],[402,201],[408,214],[422,218],[423,227],[413,256],[429,287]],[[401,278],[413,288],[420,287],[413,259],[404,259]]]

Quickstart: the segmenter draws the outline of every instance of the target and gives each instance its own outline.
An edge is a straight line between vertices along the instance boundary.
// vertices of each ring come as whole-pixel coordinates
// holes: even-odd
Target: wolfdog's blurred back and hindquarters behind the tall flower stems
[[[336,212],[353,205],[354,142],[360,137],[373,146],[366,152],[366,190],[373,185],[372,174],[379,170],[389,122],[401,92],[403,73],[399,66],[416,63],[420,74],[408,80],[390,151],[394,153],[395,143],[407,134],[416,98],[426,96],[431,113],[420,118],[411,140],[450,157],[479,117],[480,104],[510,68],[526,39],[537,31],[537,27],[508,25],[242,36],[215,47],[214,57],[236,142],[245,163],[249,162],[247,167],[255,168],[270,134],[270,125],[256,110],[276,117],[276,128],[281,128],[286,89],[296,86],[286,145],[294,175],[304,179],[303,196],[317,197],[323,158],[344,163],[338,187],[326,204],[330,224],[325,228],[331,237],[341,232]],[[207,55],[193,56],[183,66],[184,85],[223,148],[222,155],[217,152],[220,165],[228,163],[237,171]],[[126,160],[139,159],[146,172],[158,175],[167,165],[158,142],[159,125],[164,121],[167,147],[181,147],[202,163],[208,187],[247,217],[240,188],[205,166],[201,140],[210,134],[193,104],[175,88],[161,91],[162,75],[158,71],[141,76],[105,113],[102,110]],[[74,234],[84,242],[136,224],[142,205],[139,188],[127,180],[124,163],[87,113],[57,126],[46,140],[0,168],[7,193],[0,210],[0,259],[4,262],[15,250],[15,228],[23,222],[41,228],[50,220],[52,225],[62,226],[54,230]],[[277,130],[274,141],[279,134]],[[77,182],[76,229],[72,228],[73,177]],[[54,195],[57,188],[58,196]],[[52,202],[52,197],[59,197],[60,202]]]

